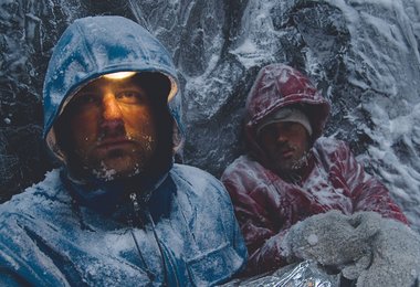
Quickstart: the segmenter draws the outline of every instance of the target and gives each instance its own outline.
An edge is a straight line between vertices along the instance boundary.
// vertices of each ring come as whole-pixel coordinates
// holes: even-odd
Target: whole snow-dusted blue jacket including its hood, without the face
[[[168,52],[128,19],[85,18],[63,33],[44,83],[44,137],[64,163],[57,117],[83,85],[120,71],[168,77],[179,148],[180,97]],[[227,191],[209,173],[172,162],[170,156],[156,174],[128,183],[75,181],[65,168],[53,170],[2,204],[0,285],[211,286],[231,278],[246,248]],[[133,182],[141,193],[125,192]]]

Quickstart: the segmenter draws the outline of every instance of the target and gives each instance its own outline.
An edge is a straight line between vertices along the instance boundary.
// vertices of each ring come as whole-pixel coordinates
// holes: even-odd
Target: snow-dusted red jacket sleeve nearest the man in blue
[[[270,211],[261,206],[251,196],[250,190],[245,189],[245,182],[242,179],[244,178],[230,174],[229,178],[222,178],[222,181],[231,195],[234,212],[250,254],[243,275],[251,276],[286,265],[285,258],[281,255],[281,243],[286,230],[281,230],[280,233],[276,231],[277,227],[270,219]],[[263,189],[261,185],[259,188]],[[259,188],[252,192],[265,193]]]

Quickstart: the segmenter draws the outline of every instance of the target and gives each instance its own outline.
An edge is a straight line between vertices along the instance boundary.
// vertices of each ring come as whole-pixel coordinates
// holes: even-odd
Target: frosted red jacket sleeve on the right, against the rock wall
[[[338,168],[337,170],[334,170]],[[340,142],[338,159],[330,172],[339,172],[347,181],[351,192],[354,212],[374,211],[384,217],[395,219],[408,224],[407,217],[391,199],[388,189],[376,178],[367,174],[364,167],[358,163],[348,146]],[[340,179],[342,177],[333,177]]]

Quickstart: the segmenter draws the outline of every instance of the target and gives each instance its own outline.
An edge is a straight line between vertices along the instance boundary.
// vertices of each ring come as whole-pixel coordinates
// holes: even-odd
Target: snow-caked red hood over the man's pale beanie
[[[250,153],[269,162],[259,145],[256,128],[280,108],[302,105],[312,129],[313,142],[321,137],[329,115],[329,104],[308,77],[284,64],[264,66],[246,98],[245,138]]]

